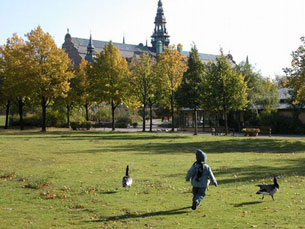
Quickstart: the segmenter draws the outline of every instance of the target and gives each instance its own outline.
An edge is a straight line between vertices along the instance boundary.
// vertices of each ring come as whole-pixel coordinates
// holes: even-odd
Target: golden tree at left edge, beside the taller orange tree
[[[14,34],[12,38],[7,39],[6,45],[0,48],[0,53],[3,56],[4,91],[7,98],[18,104],[20,129],[23,130],[23,107],[33,95],[34,85],[33,77],[29,73],[29,52],[25,41]]]

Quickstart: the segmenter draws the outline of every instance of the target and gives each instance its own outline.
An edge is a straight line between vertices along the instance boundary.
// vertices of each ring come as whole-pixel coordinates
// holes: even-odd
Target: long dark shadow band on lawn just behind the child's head
[[[210,153],[296,153],[305,152],[305,141],[286,140],[286,139],[209,139],[208,141],[199,142],[163,142],[151,143],[147,145],[126,145],[124,149],[120,146],[113,146],[115,150],[124,151],[140,151],[148,148],[150,152],[155,154],[178,154],[178,153],[194,153],[196,149],[202,149],[208,154]],[[145,154],[145,152],[143,152]]]

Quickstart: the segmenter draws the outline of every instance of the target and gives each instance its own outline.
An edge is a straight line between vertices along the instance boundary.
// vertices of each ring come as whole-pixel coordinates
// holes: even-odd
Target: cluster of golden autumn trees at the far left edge
[[[0,94],[6,103],[6,127],[10,104],[16,101],[23,129],[23,108],[39,101],[42,131],[46,131],[46,109],[56,97],[66,94],[72,78],[70,60],[57,48],[50,34],[40,27],[26,35],[27,41],[14,34],[0,47]]]

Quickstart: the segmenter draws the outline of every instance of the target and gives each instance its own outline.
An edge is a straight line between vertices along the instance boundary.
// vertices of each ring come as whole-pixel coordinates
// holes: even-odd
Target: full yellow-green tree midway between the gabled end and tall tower
[[[115,109],[128,99],[129,75],[127,61],[121,57],[119,49],[111,41],[97,54],[89,69],[96,101],[111,105],[112,130],[115,130]]]

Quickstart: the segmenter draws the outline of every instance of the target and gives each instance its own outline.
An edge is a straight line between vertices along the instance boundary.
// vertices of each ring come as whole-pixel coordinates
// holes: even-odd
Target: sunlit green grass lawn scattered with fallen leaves
[[[193,211],[197,148],[219,186]],[[274,175],[275,201],[261,200]],[[304,138],[0,132],[0,228],[305,228],[304,188]]]

